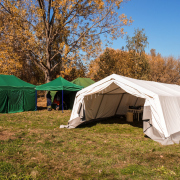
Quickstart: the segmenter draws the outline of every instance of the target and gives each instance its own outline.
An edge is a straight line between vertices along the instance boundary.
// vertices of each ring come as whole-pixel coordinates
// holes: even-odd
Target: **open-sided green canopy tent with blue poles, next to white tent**
[[[57,79],[49,83],[36,86],[36,90],[58,91],[60,97],[62,97],[62,102],[66,102],[68,109],[72,109],[76,92],[81,90],[82,88],[82,86],[73,84],[62,77],[58,77]],[[52,94],[54,97],[54,93],[51,93],[51,95]]]

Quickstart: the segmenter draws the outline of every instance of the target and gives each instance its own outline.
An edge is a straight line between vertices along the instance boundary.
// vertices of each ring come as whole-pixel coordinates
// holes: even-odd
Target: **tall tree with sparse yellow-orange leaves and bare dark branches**
[[[77,57],[93,56],[100,49],[100,35],[108,34],[116,39],[124,34],[122,26],[131,24],[132,20],[124,14],[118,15],[122,2],[1,0],[0,49],[14,54],[14,63],[27,56],[49,82],[58,66],[64,71],[69,68],[68,62]],[[0,60],[4,59],[8,57]]]

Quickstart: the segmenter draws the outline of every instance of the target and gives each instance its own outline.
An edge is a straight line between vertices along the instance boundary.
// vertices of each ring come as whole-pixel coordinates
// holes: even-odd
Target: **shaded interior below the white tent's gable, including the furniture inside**
[[[129,122],[142,120],[145,99],[129,93],[92,94],[84,98],[85,119],[124,116]]]

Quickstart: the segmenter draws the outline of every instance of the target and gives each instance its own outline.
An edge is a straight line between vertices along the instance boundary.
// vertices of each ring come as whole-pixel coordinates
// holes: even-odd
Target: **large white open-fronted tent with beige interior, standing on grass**
[[[180,140],[180,86],[112,74],[76,94],[67,128],[83,122],[126,115],[129,106],[144,105],[143,130],[163,145]]]

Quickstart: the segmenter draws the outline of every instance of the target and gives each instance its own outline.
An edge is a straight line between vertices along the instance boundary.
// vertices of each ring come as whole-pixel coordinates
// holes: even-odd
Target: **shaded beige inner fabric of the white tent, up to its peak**
[[[112,83],[101,92],[84,97],[85,120],[89,121],[117,115],[127,117],[130,109],[132,109],[132,112],[137,112],[138,109],[136,108],[143,107],[144,103],[145,99],[133,96]],[[134,116],[136,114],[134,113]]]

